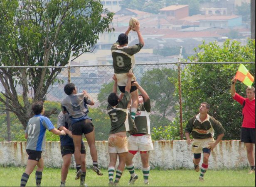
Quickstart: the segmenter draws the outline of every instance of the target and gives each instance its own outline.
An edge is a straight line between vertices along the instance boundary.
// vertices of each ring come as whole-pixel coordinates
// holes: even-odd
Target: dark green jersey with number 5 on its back
[[[108,104],[107,112],[111,120],[111,129],[109,134],[133,129],[133,121],[127,108],[130,98],[130,93],[125,91],[123,99],[118,103],[118,105],[113,107]]]

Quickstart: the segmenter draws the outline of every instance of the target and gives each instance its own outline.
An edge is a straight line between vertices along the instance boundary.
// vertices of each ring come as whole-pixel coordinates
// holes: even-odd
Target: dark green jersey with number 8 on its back
[[[134,54],[138,53],[143,45],[138,43],[134,46],[118,47],[119,43],[114,43],[111,47],[114,72],[117,74],[128,73],[135,65]]]

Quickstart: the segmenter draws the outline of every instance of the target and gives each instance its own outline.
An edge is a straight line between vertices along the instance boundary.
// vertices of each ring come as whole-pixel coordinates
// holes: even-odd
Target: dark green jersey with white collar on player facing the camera
[[[194,139],[206,139],[213,137],[214,132],[217,136],[226,132],[222,124],[214,117],[207,115],[207,118],[201,122],[199,116],[200,114],[197,114],[190,118],[185,128],[185,132],[191,133]]]

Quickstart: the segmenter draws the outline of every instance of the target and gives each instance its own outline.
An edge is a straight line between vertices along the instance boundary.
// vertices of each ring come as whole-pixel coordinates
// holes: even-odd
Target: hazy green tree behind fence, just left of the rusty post
[[[168,78],[171,77],[171,81]],[[162,68],[149,70],[143,74],[140,85],[147,91],[150,100],[154,104],[155,114],[164,120],[170,117],[174,111],[174,106],[178,99],[174,95],[175,79],[177,79],[177,71]]]

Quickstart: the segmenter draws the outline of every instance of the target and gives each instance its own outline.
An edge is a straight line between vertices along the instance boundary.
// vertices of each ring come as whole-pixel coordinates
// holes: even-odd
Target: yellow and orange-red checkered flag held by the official
[[[250,88],[254,82],[254,76],[250,74],[250,72],[243,64],[240,64],[236,72],[236,79],[244,83],[246,86],[249,86]]]

